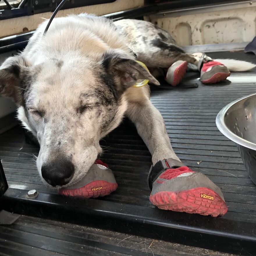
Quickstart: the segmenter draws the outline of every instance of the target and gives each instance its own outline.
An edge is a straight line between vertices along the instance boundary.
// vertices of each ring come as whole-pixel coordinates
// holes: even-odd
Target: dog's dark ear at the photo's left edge
[[[18,106],[22,105],[27,73],[28,63],[23,57],[7,58],[0,67],[0,95],[12,99]]]

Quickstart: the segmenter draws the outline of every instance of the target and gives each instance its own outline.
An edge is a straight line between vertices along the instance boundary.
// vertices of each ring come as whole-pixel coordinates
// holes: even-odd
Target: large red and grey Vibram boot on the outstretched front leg
[[[221,189],[202,173],[172,158],[157,162],[148,175],[150,202],[159,209],[216,217],[227,212]]]

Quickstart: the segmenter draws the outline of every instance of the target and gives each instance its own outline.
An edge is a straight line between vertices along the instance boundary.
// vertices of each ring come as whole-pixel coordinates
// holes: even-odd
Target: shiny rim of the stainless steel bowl
[[[250,141],[247,141],[239,136],[237,136],[236,134],[234,134],[232,131],[230,131],[230,129],[226,126],[225,121],[224,121],[224,116],[227,113],[227,111],[230,109],[231,106],[233,106],[234,104],[236,104],[237,102],[255,96],[256,93],[244,96],[242,98],[239,98],[237,100],[234,100],[233,102],[227,104],[223,109],[221,109],[221,111],[218,113],[218,115],[216,116],[216,126],[218,128],[218,130],[227,138],[229,138],[231,141],[234,141],[235,143],[243,146],[243,147],[247,147],[250,148],[252,150],[256,150],[256,144]]]

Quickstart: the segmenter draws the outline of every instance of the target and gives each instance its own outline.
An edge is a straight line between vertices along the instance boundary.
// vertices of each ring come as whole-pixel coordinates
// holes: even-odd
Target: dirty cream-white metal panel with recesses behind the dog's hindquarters
[[[170,32],[177,44],[250,42],[256,35],[256,1],[172,10],[147,20]]]

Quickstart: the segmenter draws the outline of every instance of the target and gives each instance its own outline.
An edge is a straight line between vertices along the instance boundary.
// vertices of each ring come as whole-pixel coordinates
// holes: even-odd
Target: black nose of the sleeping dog
[[[51,186],[65,185],[73,177],[74,165],[69,160],[58,160],[44,164],[41,168],[42,177]]]

